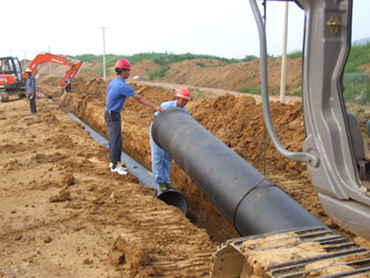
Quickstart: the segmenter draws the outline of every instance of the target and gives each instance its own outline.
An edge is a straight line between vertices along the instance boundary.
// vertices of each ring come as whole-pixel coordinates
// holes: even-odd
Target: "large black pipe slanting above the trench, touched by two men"
[[[241,236],[310,226],[329,229],[184,109],[170,108],[156,117],[151,132]]]

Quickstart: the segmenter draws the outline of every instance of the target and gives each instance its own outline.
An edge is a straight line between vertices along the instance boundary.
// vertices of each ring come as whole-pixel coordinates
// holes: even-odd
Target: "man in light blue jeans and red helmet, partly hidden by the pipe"
[[[187,101],[190,100],[190,92],[187,89],[182,88],[178,90],[176,97],[177,100],[163,102],[160,104],[160,107],[165,109],[179,107],[187,111],[185,105],[187,104]],[[155,117],[158,115],[159,112],[155,112],[151,115],[151,120],[155,120]],[[172,158],[164,149],[155,144],[153,137],[151,136],[151,129],[149,133],[151,137],[151,171],[153,172],[155,182],[158,184],[162,192],[166,192],[168,189],[175,189],[175,186],[171,184],[171,181],[169,180]]]

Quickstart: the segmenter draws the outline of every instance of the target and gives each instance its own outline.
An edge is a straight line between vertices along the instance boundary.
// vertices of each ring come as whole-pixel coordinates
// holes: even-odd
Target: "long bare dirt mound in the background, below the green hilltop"
[[[301,88],[302,60],[287,59],[287,95]],[[280,93],[281,60],[269,60],[269,92],[271,95]],[[143,72],[142,64],[137,63],[133,72]],[[156,82],[193,85],[205,88],[216,88],[241,92],[243,88],[260,85],[260,60],[248,63],[227,65],[219,60],[198,59],[184,60],[174,63],[164,77]]]

